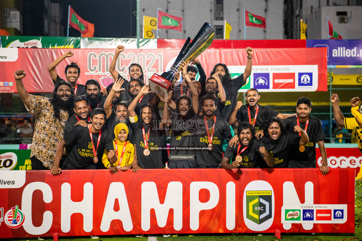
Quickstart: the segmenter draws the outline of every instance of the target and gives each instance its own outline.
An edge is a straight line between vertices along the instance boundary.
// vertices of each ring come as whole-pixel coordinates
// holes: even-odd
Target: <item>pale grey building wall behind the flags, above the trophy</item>
[[[266,32],[257,27],[247,27],[247,39],[283,39],[283,1],[268,0],[267,12],[265,0],[240,1],[241,11],[240,19],[239,0],[224,0],[224,20],[231,25],[232,30],[230,39],[244,39],[244,8],[249,12],[266,17]],[[210,0],[153,0],[140,2],[141,25],[143,24],[143,15],[157,17],[157,7],[168,14],[183,17],[181,24],[184,32],[166,29],[159,30],[159,38],[185,39],[188,36],[194,38],[204,22],[214,25],[224,25],[224,21],[214,20],[214,1]],[[182,11],[184,9],[184,12]],[[211,11],[210,11],[211,10]],[[141,26],[142,27],[142,26]],[[240,27],[240,32],[239,32]],[[155,30],[154,30],[155,31]],[[156,34],[156,33],[155,33]],[[239,37],[238,37],[239,34]]]

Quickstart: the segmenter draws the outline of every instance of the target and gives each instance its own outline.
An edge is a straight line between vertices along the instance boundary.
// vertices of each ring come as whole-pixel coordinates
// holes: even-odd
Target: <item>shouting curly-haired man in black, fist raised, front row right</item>
[[[283,120],[279,117],[274,116],[266,121],[264,125],[265,134],[261,141],[273,159],[274,168],[289,167],[291,150],[309,142],[307,133],[299,125],[294,126],[294,131],[300,133],[300,135],[289,134],[285,129]],[[266,167],[265,163],[261,163],[260,167]]]

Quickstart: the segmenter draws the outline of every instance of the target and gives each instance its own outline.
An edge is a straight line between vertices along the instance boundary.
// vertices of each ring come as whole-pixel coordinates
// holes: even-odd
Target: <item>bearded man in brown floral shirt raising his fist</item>
[[[31,169],[48,170],[54,166],[56,147],[63,139],[64,125],[73,113],[75,95],[65,81],[56,82],[52,98],[30,95],[22,82],[25,75],[24,70],[17,70],[14,77],[18,95],[35,118]]]

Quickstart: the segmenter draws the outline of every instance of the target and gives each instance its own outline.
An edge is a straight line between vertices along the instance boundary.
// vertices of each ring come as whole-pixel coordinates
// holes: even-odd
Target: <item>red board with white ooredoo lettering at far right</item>
[[[338,145],[338,144],[337,144]],[[362,155],[357,147],[354,148],[326,148],[329,168],[353,168],[355,177],[361,168]],[[319,148],[316,148],[317,167],[322,165]],[[329,169],[331,170],[331,169]]]

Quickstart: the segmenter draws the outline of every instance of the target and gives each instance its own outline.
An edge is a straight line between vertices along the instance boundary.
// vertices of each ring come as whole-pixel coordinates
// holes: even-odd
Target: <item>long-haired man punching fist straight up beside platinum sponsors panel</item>
[[[237,78],[231,79],[231,75],[229,69],[225,64],[219,63],[214,66],[211,71],[210,76],[213,74],[217,74],[223,84],[225,94],[226,94],[226,102],[221,111],[221,117],[229,121],[231,113],[233,112],[236,101],[237,101],[237,91],[241,88],[241,86],[245,85],[247,79],[251,75],[252,69],[252,58],[253,58],[253,49],[251,47],[246,48],[247,52],[247,65],[245,66],[245,71],[243,74],[240,74]]]

